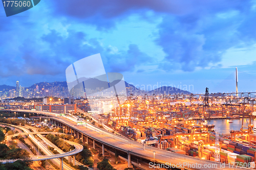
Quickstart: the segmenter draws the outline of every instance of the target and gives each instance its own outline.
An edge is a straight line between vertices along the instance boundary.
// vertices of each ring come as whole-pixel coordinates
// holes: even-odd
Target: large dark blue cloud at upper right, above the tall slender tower
[[[249,1],[209,1],[201,8],[182,15],[165,15],[159,25],[156,43],[166,54],[159,68],[171,70],[168,63],[183,71],[209,65],[219,67],[222,55],[231,47],[245,47],[256,42],[251,22],[256,11]],[[229,5],[228,5],[229,4]],[[201,10],[200,10],[201,9]],[[248,23],[248,24],[247,24]]]

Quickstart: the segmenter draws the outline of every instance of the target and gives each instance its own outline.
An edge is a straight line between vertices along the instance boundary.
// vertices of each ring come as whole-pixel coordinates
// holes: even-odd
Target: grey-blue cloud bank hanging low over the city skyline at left
[[[106,70],[112,72],[133,71],[135,66],[151,61],[136,44],[130,44],[127,51],[113,54],[98,39],[88,38],[83,32],[67,30],[67,35],[61,35],[56,30],[51,30],[39,38],[24,39],[17,51],[11,53],[16,58],[2,60],[0,73],[1,77],[62,74],[65,78],[65,70],[70,64],[97,53],[101,54]]]

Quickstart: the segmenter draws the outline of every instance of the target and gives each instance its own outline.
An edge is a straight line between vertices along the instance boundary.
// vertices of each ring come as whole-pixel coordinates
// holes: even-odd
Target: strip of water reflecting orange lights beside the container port
[[[216,128],[219,128],[219,133],[228,134],[230,133],[230,130],[240,130],[242,127],[242,118],[238,119],[231,119],[233,123],[228,123],[227,119],[210,119],[207,120],[207,124],[214,124]],[[249,120],[247,119],[248,123]],[[251,121],[251,124],[253,125],[253,120]],[[247,127],[247,122],[244,120],[244,126]]]

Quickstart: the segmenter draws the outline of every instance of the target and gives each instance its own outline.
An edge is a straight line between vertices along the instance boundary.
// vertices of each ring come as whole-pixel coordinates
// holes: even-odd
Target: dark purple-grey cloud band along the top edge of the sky
[[[48,1],[52,4],[54,15],[72,17],[84,23],[108,30],[115,27],[116,22],[130,14],[140,14],[153,11],[159,14],[186,15],[191,13],[216,12],[229,9],[242,9],[247,0],[76,0]],[[198,15],[199,16],[199,15]],[[191,17],[183,19],[192,19]],[[195,19],[195,18],[194,18]],[[185,21],[184,20],[184,21]]]

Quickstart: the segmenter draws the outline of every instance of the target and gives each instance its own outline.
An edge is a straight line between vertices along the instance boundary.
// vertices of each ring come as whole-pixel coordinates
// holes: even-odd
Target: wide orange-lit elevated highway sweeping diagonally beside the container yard
[[[26,112],[26,113],[35,113],[40,115],[48,116],[48,118],[57,122],[60,126],[71,129],[71,133],[76,134],[77,136],[81,135],[83,139],[83,135],[86,136],[87,141],[88,138],[93,140],[93,145],[95,146],[95,141],[102,144],[102,152],[104,151],[104,146],[113,148],[115,150],[121,151],[127,154],[126,160],[128,162],[129,167],[131,167],[131,155],[137,158],[143,158],[146,160],[150,160],[153,162],[154,155],[155,161],[160,164],[175,164],[176,168],[180,169],[233,169],[232,165],[228,164],[222,165],[221,163],[209,161],[209,160],[200,160],[196,157],[190,157],[186,155],[181,155],[177,153],[172,153],[169,151],[145,146],[145,150],[143,149],[143,145],[141,143],[129,140],[125,137],[114,135],[108,131],[102,130],[98,127],[88,124],[88,126],[76,126],[76,122],[73,118],[69,116],[60,117],[57,114],[50,112],[41,112],[41,111],[31,111],[31,110],[6,110],[11,112]],[[154,154],[155,153],[155,154]],[[134,164],[134,162],[132,162]],[[135,163],[136,164],[136,163]],[[149,165],[149,164],[148,164]],[[190,166],[189,166],[190,165]],[[194,165],[197,165],[194,167]],[[200,165],[200,167],[199,167]],[[224,167],[223,167],[224,166]],[[153,168],[153,166],[151,166]],[[249,168],[240,168],[240,169],[249,169]]]

